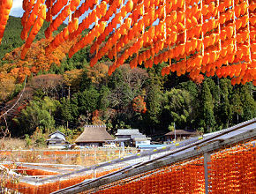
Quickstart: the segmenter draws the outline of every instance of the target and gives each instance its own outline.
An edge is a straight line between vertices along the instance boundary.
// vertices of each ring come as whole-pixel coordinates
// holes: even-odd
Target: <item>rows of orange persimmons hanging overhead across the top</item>
[[[0,40],[11,4],[12,0],[0,3]],[[69,56],[91,45],[91,66],[105,55],[114,59],[109,75],[132,57],[132,68],[169,62],[162,75],[177,71],[178,76],[189,73],[196,80],[203,73],[229,76],[233,85],[250,81],[255,85],[255,8],[253,0],[129,0],[125,4],[123,0],[103,0],[101,4],[98,0],[24,0],[21,38],[26,43],[20,57],[26,58],[47,20],[50,24],[45,36],[52,40],[45,48],[47,56],[91,26],[89,33],[70,48]],[[85,12],[87,17],[79,23]],[[52,38],[67,18],[68,26]],[[172,63],[174,60],[177,63]]]

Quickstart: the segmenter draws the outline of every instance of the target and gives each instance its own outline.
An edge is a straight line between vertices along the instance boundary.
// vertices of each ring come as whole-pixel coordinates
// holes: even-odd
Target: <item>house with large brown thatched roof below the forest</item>
[[[103,146],[113,140],[106,131],[106,125],[85,125],[84,131],[75,142],[79,146]]]

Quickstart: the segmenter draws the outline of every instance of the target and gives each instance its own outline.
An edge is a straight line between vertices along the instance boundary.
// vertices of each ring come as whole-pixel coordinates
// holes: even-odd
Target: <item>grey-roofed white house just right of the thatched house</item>
[[[119,145],[135,146],[150,145],[150,139],[146,135],[139,132],[138,129],[118,129],[116,133],[117,138],[115,141]]]

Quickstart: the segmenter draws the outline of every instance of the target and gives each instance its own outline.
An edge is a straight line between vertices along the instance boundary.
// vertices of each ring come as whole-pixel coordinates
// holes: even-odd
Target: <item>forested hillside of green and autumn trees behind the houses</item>
[[[11,107],[18,99],[27,76],[26,95],[6,116],[12,136],[31,135],[36,128],[73,134],[86,123],[106,124],[112,133],[119,128],[138,128],[147,135],[161,136],[174,123],[177,129],[210,132],[256,116],[252,83],[231,86],[230,78],[215,76],[195,83],[176,73],[162,77],[161,69],[167,63],[132,70],[126,63],[109,76],[112,62],[108,58],[89,66],[90,47],[68,58],[67,42],[52,56],[39,56],[37,51],[49,44],[43,34],[21,61],[19,20],[10,19],[0,46],[4,57],[0,67],[1,114],[5,105]],[[4,119],[0,122],[0,128],[6,128]]]

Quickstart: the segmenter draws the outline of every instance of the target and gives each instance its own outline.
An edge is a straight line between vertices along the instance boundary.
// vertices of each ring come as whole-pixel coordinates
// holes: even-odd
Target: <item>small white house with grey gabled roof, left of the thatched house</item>
[[[65,139],[66,135],[61,131],[55,131],[49,134],[47,145],[49,148],[62,149],[70,146],[70,143]]]

